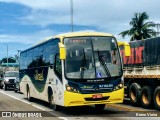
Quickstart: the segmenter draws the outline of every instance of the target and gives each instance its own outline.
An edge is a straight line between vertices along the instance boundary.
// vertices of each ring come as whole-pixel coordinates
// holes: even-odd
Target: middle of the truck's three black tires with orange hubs
[[[144,86],[141,91],[141,105],[144,108],[150,108],[152,105],[152,88]]]

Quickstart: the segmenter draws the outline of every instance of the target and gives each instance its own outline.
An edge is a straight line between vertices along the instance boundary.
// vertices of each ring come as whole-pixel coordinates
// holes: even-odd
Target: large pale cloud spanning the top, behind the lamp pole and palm
[[[70,0],[0,0],[31,8],[19,18],[21,24],[47,27],[70,24]],[[129,29],[135,12],[147,12],[152,21],[160,21],[159,0],[72,0],[74,25],[94,26],[98,31],[118,35]]]

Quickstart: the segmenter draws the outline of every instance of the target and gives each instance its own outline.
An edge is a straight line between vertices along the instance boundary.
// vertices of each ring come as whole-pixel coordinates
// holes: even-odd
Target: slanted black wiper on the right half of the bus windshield
[[[100,55],[99,55],[99,50],[98,50],[98,59],[99,59],[101,65],[102,65],[105,73],[107,74],[107,76],[108,76],[108,77],[111,77],[111,74],[110,74],[110,72],[109,72],[109,69],[108,69],[108,67],[107,67],[107,64],[105,63],[105,61],[103,60],[103,58],[101,58]]]

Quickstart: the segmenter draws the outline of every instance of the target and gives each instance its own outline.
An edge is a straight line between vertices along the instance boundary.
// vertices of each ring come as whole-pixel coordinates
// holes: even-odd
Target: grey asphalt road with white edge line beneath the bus
[[[159,119],[159,117],[147,117],[150,113],[152,115],[160,116],[160,112],[154,109],[143,109],[139,107],[133,107],[129,104],[128,101],[125,101],[124,104],[107,104],[106,108],[102,112],[97,112],[93,106],[85,107],[71,107],[71,108],[61,108],[60,111],[53,111],[50,109],[49,104],[34,99],[32,102],[29,102],[26,99],[26,96],[21,93],[15,93],[12,90],[3,91],[0,89],[0,111],[1,112],[11,112],[12,118],[17,120],[23,120],[25,115],[35,113],[39,118],[31,119],[42,119],[48,120],[54,118],[54,120],[124,120],[124,119],[137,119],[136,115],[146,117],[140,117],[143,119]],[[19,114],[18,114],[19,113]],[[153,114],[154,113],[154,114]],[[0,113],[2,116],[2,113]],[[19,115],[18,117],[16,115]],[[42,118],[40,118],[42,116]],[[14,117],[14,118],[13,118]],[[139,118],[139,117],[138,117]],[[1,119],[1,118],[0,118]],[[8,119],[8,118],[3,118]]]

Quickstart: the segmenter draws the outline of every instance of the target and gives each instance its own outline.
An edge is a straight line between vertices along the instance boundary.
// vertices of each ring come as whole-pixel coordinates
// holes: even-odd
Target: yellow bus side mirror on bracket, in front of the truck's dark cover
[[[124,53],[125,53],[125,56],[131,56],[131,47],[129,45],[129,43],[127,42],[118,42],[118,46],[124,46]]]

